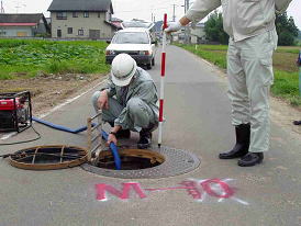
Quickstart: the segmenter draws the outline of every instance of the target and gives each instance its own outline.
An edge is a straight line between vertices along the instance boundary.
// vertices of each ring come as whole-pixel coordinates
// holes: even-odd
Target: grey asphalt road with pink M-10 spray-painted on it
[[[156,61],[149,74],[158,82],[159,54]],[[73,128],[81,126],[92,114],[91,93],[45,120]],[[171,178],[121,180],[81,168],[25,171],[0,160],[0,225],[301,225],[300,135],[272,123],[271,148],[263,165],[239,168],[237,160],[218,159],[219,152],[234,143],[225,75],[174,46],[167,48],[165,113],[164,145],[197,155],[201,159],[198,169]],[[34,126],[42,139],[0,147],[0,154],[35,145],[86,146],[86,133],[70,135]],[[34,137],[32,131],[8,142],[30,137]],[[132,142],[136,139],[134,136]],[[180,189],[182,181],[198,184],[199,196]],[[122,183],[136,190],[122,192]],[[111,193],[107,190],[105,199],[101,197],[97,184],[107,184]]]

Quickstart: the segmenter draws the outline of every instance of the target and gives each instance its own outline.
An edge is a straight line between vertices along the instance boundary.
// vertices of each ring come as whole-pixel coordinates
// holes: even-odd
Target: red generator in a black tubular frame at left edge
[[[20,133],[31,126],[31,93],[0,93],[0,132]]]

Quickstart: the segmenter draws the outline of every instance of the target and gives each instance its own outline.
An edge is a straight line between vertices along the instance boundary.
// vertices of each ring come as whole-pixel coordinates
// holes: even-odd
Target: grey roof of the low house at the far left
[[[41,19],[43,19],[43,13],[35,13],[35,14],[11,14],[11,13],[1,13],[0,21],[1,23],[5,24],[37,24],[40,23]]]

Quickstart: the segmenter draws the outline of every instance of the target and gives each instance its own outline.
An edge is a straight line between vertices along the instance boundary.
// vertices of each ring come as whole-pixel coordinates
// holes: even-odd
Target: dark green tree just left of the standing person
[[[205,36],[209,41],[221,44],[228,43],[228,35],[223,30],[223,15],[214,11],[204,24]]]

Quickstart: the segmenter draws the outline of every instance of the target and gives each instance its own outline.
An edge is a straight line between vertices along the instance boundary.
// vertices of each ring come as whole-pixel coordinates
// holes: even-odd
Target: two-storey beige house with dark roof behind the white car
[[[111,22],[111,0],[53,0],[52,37],[111,39],[118,27]]]

